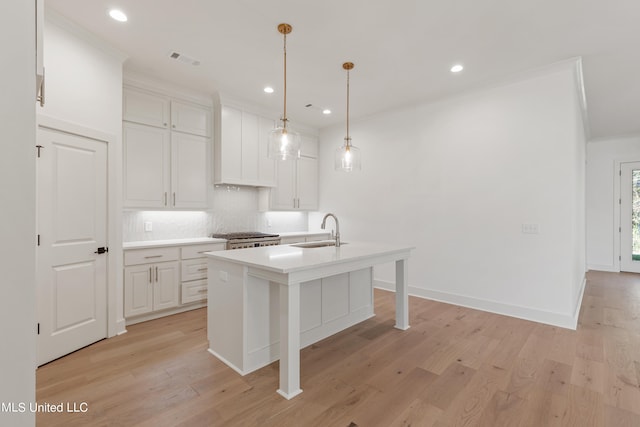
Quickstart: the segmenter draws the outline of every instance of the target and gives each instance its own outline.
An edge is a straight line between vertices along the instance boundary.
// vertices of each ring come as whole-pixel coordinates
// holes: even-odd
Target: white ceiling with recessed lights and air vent
[[[582,57],[591,138],[640,134],[637,0],[45,0],[45,7],[127,54],[125,71],[274,111],[282,110],[283,86],[276,27],[287,22],[294,128],[344,122],[345,61],[355,63],[357,119]],[[113,7],[128,22],[109,18]],[[172,60],[171,51],[200,65]],[[452,74],[456,63],[465,68]],[[266,85],[275,93],[265,94]]]

